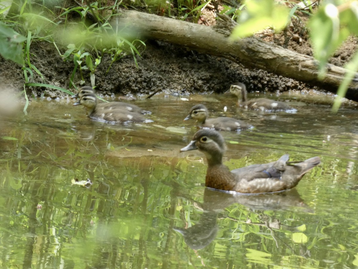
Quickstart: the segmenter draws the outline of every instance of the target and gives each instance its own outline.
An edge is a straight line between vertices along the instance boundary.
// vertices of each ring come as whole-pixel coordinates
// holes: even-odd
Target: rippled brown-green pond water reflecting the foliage
[[[330,97],[287,94],[297,113],[264,113],[227,95],[188,98],[130,101],[152,111],[146,124],[93,122],[73,100],[32,100],[27,115],[1,121],[0,267],[358,266],[354,104],[332,114]],[[207,189],[204,155],[179,153],[198,103],[254,126],[221,132],[230,169],[286,153],[322,164],[281,194]]]

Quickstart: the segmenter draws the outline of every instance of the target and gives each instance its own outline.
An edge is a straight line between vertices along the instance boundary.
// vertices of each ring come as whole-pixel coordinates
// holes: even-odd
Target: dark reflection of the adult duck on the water
[[[202,205],[203,214],[199,222],[187,229],[179,227],[174,227],[173,229],[183,235],[185,243],[190,248],[194,250],[203,249],[216,237],[219,230],[217,225],[218,214],[222,209],[233,203],[240,203],[251,209],[282,210],[292,207],[303,207],[305,210],[310,211],[296,189],[280,193],[245,195],[205,188],[204,203]],[[263,222],[259,225],[266,226],[267,228],[281,228],[281,224],[278,221],[271,223]],[[286,226],[285,228],[287,230],[295,230],[295,227]]]

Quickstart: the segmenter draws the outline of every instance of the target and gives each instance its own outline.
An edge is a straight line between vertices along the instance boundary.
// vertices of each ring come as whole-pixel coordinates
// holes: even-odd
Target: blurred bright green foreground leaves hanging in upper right
[[[238,16],[239,25],[231,34],[232,39],[252,35],[258,30],[272,27],[281,30],[285,27],[289,18],[294,16],[297,5],[290,11],[282,5],[275,5],[272,0],[247,0],[245,6],[232,9],[229,6],[223,10],[224,13]],[[310,6],[310,11],[314,12]],[[323,78],[326,72],[326,63],[329,57],[337,50],[342,42],[350,35],[358,35],[358,1],[334,0],[323,2],[318,10],[311,16],[308,27],[312,41],[314,56],[318,60],[319,77]],[[332,110],[337,112],[341,99],[347,92],[355,72],[358,70],[358,56],[354,56],[347,63],[344,81],[337,91],[338,96]]]

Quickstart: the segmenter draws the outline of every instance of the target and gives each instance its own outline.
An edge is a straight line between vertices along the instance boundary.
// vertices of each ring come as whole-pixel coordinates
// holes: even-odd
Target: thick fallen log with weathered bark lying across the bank
[[[248,68],[263,69],[277,75],[318,85],[336,92],[346,69],[327,64],[327,74],[318,79],[318,62],[256,37],[232,42],[228,35],[208,27],[138,11],[124,11],[119,24],[130,27],[142,36],[179,44],[196,51],[228,58]],[[358,101],[358,73],[350,85],[347,98]]]

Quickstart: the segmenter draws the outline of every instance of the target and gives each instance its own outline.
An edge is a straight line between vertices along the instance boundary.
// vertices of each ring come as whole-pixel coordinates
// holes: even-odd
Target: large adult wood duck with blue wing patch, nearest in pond
[[[320,163],[319,157],[313,157],[290,164],[287,162],[289,155],[285,154],[275,162],[229,171],[222,163],[225,152],[224,139],[219,132],[210,129],[196,132],[189,145],[180,151],[196,149],[204,152],[208,161],[205,186],[240,193],[269,193],[291,189],[299,183],[306,172]]]

